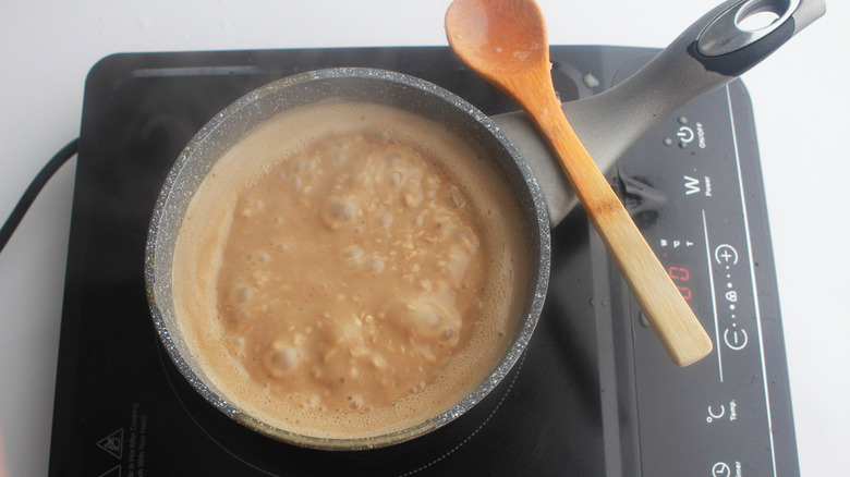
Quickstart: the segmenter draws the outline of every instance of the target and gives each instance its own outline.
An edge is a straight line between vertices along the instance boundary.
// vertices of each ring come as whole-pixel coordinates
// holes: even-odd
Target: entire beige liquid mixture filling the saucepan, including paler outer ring
[[[525,225],[500,184],[476,147],[387,107],[329,101],[258,126],[178,240],[195,359],[294,433],[379,436],[448,409],[493,371],[525,298]]]

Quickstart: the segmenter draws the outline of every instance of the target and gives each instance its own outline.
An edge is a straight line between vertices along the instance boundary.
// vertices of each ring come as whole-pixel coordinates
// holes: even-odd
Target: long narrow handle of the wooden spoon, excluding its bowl
[[[542,72],[548,81],[548,71]],[[538,78],[539,80],[539,78]],[[670,358],[690,365],[712,352],[712,340],[676,288],[563,115],[551,89],[525,85],[517,98],[537,123],[596,231]]]

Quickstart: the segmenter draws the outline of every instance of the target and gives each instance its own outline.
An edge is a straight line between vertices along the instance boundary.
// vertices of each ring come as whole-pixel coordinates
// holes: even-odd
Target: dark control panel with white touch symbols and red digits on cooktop
[[[797,468],[787,392],[772,392],[787,379],[785,350],[764,338],[779,332],[779,309],[750,111],[740,82],[697,98],[616,171],[627,208],[714,342],[708,357],[677,369],[636,304],[623,304],[618,333],[631,351],[618,366],[632,389],[620,392],[634,395],[621,402],[655,416],[623,435],[640,448],[642,475]]]

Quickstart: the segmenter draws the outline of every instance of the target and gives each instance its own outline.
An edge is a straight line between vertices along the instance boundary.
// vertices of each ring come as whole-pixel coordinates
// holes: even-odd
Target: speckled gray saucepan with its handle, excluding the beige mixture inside
[[[822,0],[732,0],[707,13],[644,69],[617,87],[564,105],[570,123],[600,169],[608,170],[638,138],[694,97],[724,85],[764,59],[824,13]],[[777,20],[757,30],[737,25],[758,12]],[[328,97],[386,103],[446,124],[481,144],[503,173],[529,221],[533,246],[521,326],[487,379],[447,412],[408,429],[368,439],[328,440],[275,428],[219,395],[180,335],[171,296],[175,240],[190,200],[218,158],[248,130],[292,108]],[[521,113],[493,119],[433,84],[399,73],[333,69],[287,77],[256,89],[207,123],[178,158],[154,210],[145,256],[145,283],[157,332],[177,367],[222,413],[270,437],[318,449],[389,445],[429,432],[481,401],[508,374],[537,323],[549,273],[549,228],[576,199],[546,145]]]

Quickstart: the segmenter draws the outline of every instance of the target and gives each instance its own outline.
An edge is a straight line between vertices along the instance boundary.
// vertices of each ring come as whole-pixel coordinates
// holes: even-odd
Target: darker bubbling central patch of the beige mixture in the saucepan
[[[368,412],[432,384],[466,344],[487,286],[476,212],[412,147],[329,137],[244,191],[234,213],[221,317],[274,395]]]

